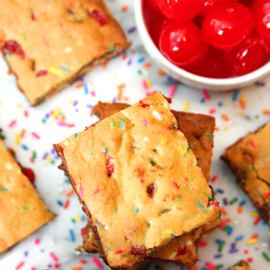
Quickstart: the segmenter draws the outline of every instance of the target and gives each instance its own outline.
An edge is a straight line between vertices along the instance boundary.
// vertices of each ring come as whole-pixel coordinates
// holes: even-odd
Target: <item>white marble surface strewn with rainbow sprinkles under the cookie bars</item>
[[[29,237],[25,241],[18,244],[11,252],[0,258],[0,270],[13,270],[16,266],[24,262],[21,270],[28,270],[35,267],[37,270],[49,269],[55,261],[50,256],[53,252],[58,257],[60,269],[72,269],[73,266],[82,266],[83,270],[97,269],[97,265],[92,262],[92,257],[88,254],[76,254],[74,248],[81,244],[80,229],[85,225],[84,221],[71,220],[75,216],[84,216],[80,203],[75,195],[68,198],[65,193],[70,190],[71,185],[65,183],[65,176],[59,171],[57,166],[60,161],[55,160],[52,164],[43,160],[43,155],[48,152],[48,156],[55,159],[55,154],[50,153],[53,143],[65,139],[76,131],[85,129],[85,126],[97,121],[95,116],[90,115],[90,108],[87,105],[94,105],[98,100],[111,101],[117,97],[119,90],[117,87],[125,84],[122,91],[121,102],[137,102],[144,98],[147,92],[158,90],[168,96],[171,85],[175,84],[173,80],[168,80],[167,75],[157,75],[158,66],[152,63],[151,59],[145,53],[141,45],[137,31],[128,33],[128,30],[135,25],[133,1],[131,0],[107,0],[107,4],[119,20],[124,31],[127,33],[128,39],[133,41],[131,48],[126,52],[126,60],[121,56],[110,61],[106,65],[106,69],[102,67],[96,68],[92,73],[85,76],[84,82],[89,89],[95,91],[95,97],[91,94],[85,95],[84,88],[76,89],[74,86],[68,87],[59,95],[51,98],[38,107],[30,107],[26,98],[16,88],[16,83],[12,75],[7,75],[7,68],[4,60],[0,62],[0,126],[4,130],[6,136],[6,146],[12,146],[16,150],[16,158],[26,167],[30,167],[36,173],[36,187],[50,209],[55,212],[58,217],[50,224],[43,227],[36,234]],[[121,11],[121,6],[128,4],[129,9],[125,12]],[[135,52],[134,52],[134,51]],[[139,63],[140,58],[145,60]],[[131,61],[131,64],[130,64]],[[144,63],[151,63],[151,68],[144,68]],[[139,73],[138,71],[141,70]],[[148,80],[151,86],[148,90],[144,90],[142,81]],[[213,264],[224,264],[222,269],[239,261],[239,259],[253,258],[251,263],[252,269],[267,270],[270,269],[270,263],[266,262],[261,252],[269,253],[269,226],[264,222],[259,222],[257,226],[253,225],[254,217],[250,216],[250,212],[256,212],[247,195],[237,188],[234,182],[234,175],[229,171],[225,163],[220,160],[220,155],[224,149],[236,141],[239,136],[243,136],[247,131],[257,129],[266,121],[270,120],[269,115],[262,113],[263,109],[270,109],[270,77],[264,80],[264,86],[252,85],[246,89],[240,90],[235,101],[232,100],[233,92],[215,93],[209,92],[210,99],[201,102],[201,90],[195,90],[180,83],[176,83],[176,90],[173,96],[173,104],[171,107],[177,110],[185,109],[188,104],[188,112],[198,112],[208,114],[210,109],[215,109],[212,113],[216,117],[216,124],[220,131],[215,132],[215,148],[212,158],[211,175],[217,175],[217,180],[212,183],[215,189],[221,188],[224,193],[217,193],[217,199],[223,206],[222,198],[228,200],[237,197],[240,200],[247,200],[243,207],[241,215],[237,213],[238,202],[234,205],[226,207],[228,215],[232,222],[229,223],[234,230],[230,236],[221,229],[215,229],[207,234],[203,241],[207,241],[207,247],[200,247],[200,261],[196,264],[198,269],[205,266],[205,261],[211,261]],[[240,106],[240,99],[245,100],[246,108]],[[70,103],[71,100],[71,103]],[[74,106],[74,102],[77,105]],[[186,103],[188,102],[188,103]],[[222,102],[222,106],[219,106]],[[74,127],[59,126],[56,119],[50,117],[46,123],[41,121],[45,114],[55,112],[56,109],[65,114],[66,122],[75,124]],[[24,112],[28,111],[28,117]],[[239,111],[243,114],[240,115]],[[222,114],[227,114],[229,121],[222,119]],[[11,121],[16,120],[16,124],[9,127]],[[16,134],[20,134],[25,129],[26,134],[16,144]],[[36,132],[41,139],[35,139],[31,132]],[[26,145],[28,150],[24,150],[22,145]],[[37,158],[31,163],[30,158],[32,151],[36,151]],[[57,200],[65,202],[70,200],[68,209],[63,209],[58,205]],[[75,242],[70,240],[69,230],[72,229],[75,234]],[[7,232],[8,233],[8,232]],[[252,234],[258,234],[258,242],[256,244],[247,245],[247,240]],[[234,242],[235,237],[240,234],[244,235],[244,239],[237,242],[239,252],[229,254],[230,244]],[[217,244],[215,239],[220,238],[225,241],[222,250],[222,257],[215,259],[217,254]],[[39,244],[35,244],[35,240],[40,239]],[[248,254],[244,250],[249,251]],[[26,256],[25,252],[28,252]],[[95,255],[97,257],[97,255]],[[79,259],[87,260],[87,264],[80,264]],[[153,269],[157,264],[166,269],[179,269],[175,264],[160,264],[153,262]],[[106,266],[104,266],[105,268]]]

